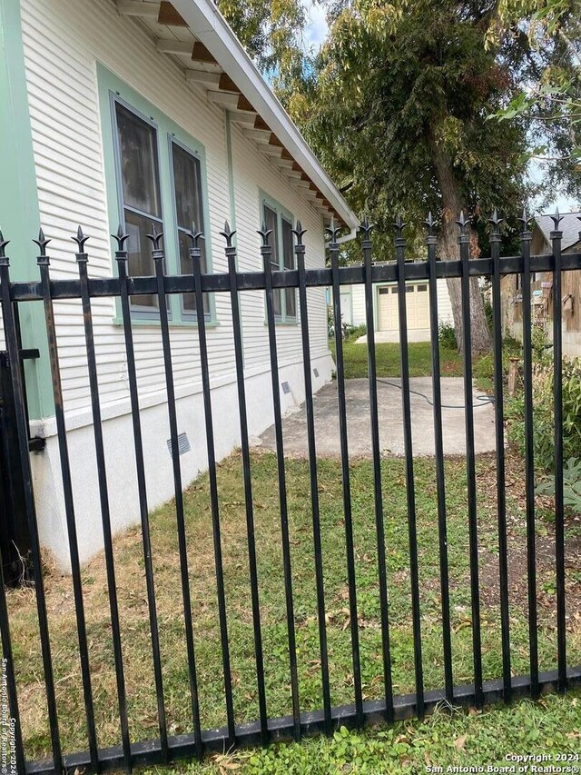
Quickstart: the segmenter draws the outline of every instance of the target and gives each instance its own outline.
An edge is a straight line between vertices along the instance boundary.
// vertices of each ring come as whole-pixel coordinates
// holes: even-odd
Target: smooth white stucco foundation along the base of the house
[[[330,382],[334,363],[327,353],[311,363],[313,390]],[[315,373],[315,370],[318,374]],[[290,392],[281,390],[282,412],[304,401],[302,361],[281,365],[279,383],[289,383]],[[201,384],[193,389],[176,390],[178,432],[187,433],[190,452],[180,457],[184,488],[208,467]],[[247,412],[250,435],[258,435],[273,422],[271,373],[254,369],[246,374]],[[164,393],[143,397],[142,434],[149,510],[174,495],[167,403]],[[235,379],[222,377],[212,385],[212,415],[216,458],[221,460],[240,446],[240,419]],[[67,415],[67,443],[73,479],[74,516],[81,561],[89,560],[103,548],[103,527],[99,501],[99,481],[94,452],[94,429],[90,412]],[[63,480],[54,418],[34,422],[35,435],[46,439],[44,452],[32,455],[34,494],[39,538],[63,571],[70,571],[70,555],[64,510]],[[128,402],[103,405],[103,444],[113,533],[140,521],[137,477],[133,447],[133,423]]]

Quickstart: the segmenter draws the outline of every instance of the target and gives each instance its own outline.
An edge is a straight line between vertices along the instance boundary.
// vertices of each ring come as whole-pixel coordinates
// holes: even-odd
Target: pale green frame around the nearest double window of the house
[[[162,246],[165,253],[165,271],[170,275],[182,273],[179,255],[179,233],[177,228],[177,212],[175,208],[175,189],[172,168],[172,143],[176,143],[182,149],[191,154],[199,163],[200,187],[202,194],[202,219],[205,229],[209,228],[209,188],[207,177],[207,165],[205,148],[203,144],[194,139],[175,124],[167,114],[155,107],[141,94],[101,63],[97,63],[97,84],[99,91],[99,103],[101,111],[101,138],[103,143],[104,181],[107,197],[107,214],[109,216],[110,232],[116,233],[118,225],[125,224],[123,206],[123,175],[121,170],[121,154],[119,138],[117,136],[117,123],[115,103],[135,114],[144,123],[153,127],[156,132],[156,150],[158,163],[158,176],[161,196],[161,212],[164,237]],[[130,208],[134,209],[134,208]],[[148,216],[149,217],[149,216]],[[154,221],[156,219],[153,219]],[[156,221],[157,223],[157,221]],[[204,244],[206,258],[206,273],[212,273],[212,240],[206,235]],[[117,273],[117,263],[113,258],[113,274]],[[215,294],[206,294],[209,300],[209,312],[205,313],[206,323],[210,327],[216,327],[220,323],[216,317]],[[167,296],[168,318],[172,326],[196,326],[197,315],[188,313],[182,309],[182,295],[171,293]],[[146,309],[134,307],[131,310],[133,323],[152,325],[160,323],[159,309]],[[115,299],[115,313],[113,324],[123,324],[121,302]]]

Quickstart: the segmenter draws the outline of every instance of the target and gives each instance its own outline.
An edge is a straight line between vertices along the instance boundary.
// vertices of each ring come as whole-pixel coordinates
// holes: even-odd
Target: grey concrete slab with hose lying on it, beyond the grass
[[[388,382],[392,384],[387,384]],[[400,381],[396,377],[378,381],[379,444],[381,453],[384,455],[404,454],[403,412],[399,384]],[[458,377],[443,377],[441,386],[444,453],[464,455],[466,454],[466,435],[464,431],[463,381]],[[430,401],[432,400],[431,377],[412,378],[410,388],[412,391],[424,393]],[[478,400],[478,396],[486,399],[485,393],[475,390],[473,395],[475,451],[477,453],[492,452],[495,449],[494,407],[490,402]],[[370,457],[368,380],[347,380],[346,397],[350,455]],[[410,403],[414,456],[433,455],[433,408],[424,397],[413,392],[410,394]],[[317,454],[320,457],[339,457],[340,435],[336,382],[325,385],[317,393],[314,399],[314,409]],[[304,404],[284,418],[283,433],[285,454],[292,457],[306,457],[308,446]],[[268,428],[257,441],[263,448],[275,451],[274,427]]]

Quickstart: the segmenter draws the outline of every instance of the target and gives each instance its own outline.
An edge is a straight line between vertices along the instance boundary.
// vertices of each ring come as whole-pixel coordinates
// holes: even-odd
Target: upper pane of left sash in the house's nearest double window
[[[155,130],[118,103],[116,115],[123,177],[123,204],[161,218]]]

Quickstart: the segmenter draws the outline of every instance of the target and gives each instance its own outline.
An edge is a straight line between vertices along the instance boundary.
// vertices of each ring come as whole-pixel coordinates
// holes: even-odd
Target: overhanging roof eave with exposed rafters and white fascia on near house
[[[244,134],[287,174],[326,218],[354,229],[359,219],[310,150],[291,117],[265,83],[213,0],[116,0],[121,15],[136,17],[171,55],[191,83],[224,105]]]

